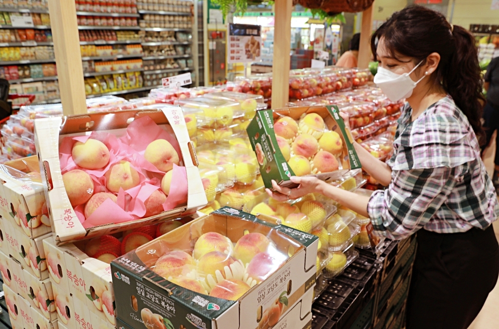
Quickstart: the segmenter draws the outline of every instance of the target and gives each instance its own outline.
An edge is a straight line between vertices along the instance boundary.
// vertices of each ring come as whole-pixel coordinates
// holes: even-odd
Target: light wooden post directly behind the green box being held
[[[289,52],[291,50],[291,11],[293,0],[275,0],[274,55],[272,61],[272,108],[289,101]]]

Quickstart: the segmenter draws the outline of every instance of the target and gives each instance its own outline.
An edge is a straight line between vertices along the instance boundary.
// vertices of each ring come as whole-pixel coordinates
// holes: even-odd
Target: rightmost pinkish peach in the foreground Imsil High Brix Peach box
[[[272,254],[261,252],[251,259],[250,264],[246,268],[246,275],[248,275],[248,278],[246,278],[245,275],[245,279],[251,280],[250,286],[252,287],[271,276],[285,263],[285,261],[285,256],[278,252]],[[246,282],[249,283],[249,281]]]

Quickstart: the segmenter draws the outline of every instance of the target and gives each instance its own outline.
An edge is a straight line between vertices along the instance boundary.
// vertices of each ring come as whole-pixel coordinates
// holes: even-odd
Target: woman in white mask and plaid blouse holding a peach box
[[[374,33],[371,48],[379,61],[374,82],[392,101],[408,102],[386,164],[355,144],[364,170],[388,187],[369,198],[291,177],[297,188],[273,182],[275,192],[267,192],[281,201],[322,193],[392,239],[417,231],[406,328],[466,329],[499,274],[491,225],[499,206],[477,139],[484,100],[475,39],[442,14],[411,6]]]

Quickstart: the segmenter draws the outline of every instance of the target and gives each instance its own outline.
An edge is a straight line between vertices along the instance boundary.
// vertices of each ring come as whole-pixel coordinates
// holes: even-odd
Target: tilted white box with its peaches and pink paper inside
[[[135,120],[126,126],[130,118]],[[96,120],[106,122],[111,130],[96,125],[88,129],[90,135],[64,137],[78,133],[80,124]],[[63,182],[46,191],[52,218],[67,218],[54,222],[57,238],[71,242],[102,235],[111,228],[116,232],[127,229],[129,224],[172,218],[204,206],[206,197],[188,151],[189,137],[182,121],[180,108],[97,113],[74,116],[63,123],[60,117],[35,121],[35,134],[41,134],[35,136],[40,161],[52,177],[57,177],[54,179]],[[121,127],[126,130],[117,136],[111,134]],[[41,137],[57,136],[59,132],[64,134],[58,146]],[[60,157],[47,158],[54,152]],[[168,173],[171,170],[174,174]],[[163,198],[151,200],[157,189],[161,189]],[[135,197],[130,198],[132,195]],[[162,204],[166,212],[144,217],[151,202]]]

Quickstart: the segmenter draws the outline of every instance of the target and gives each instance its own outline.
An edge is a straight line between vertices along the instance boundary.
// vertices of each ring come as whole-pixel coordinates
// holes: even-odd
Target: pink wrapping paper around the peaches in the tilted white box
[[[104,168],[89,170],[76,165],[72,159],[71,151],[76,142],[86,142],[93,138],[101,141],[109,149],[109,164]],[[106,188],[106,177],[104,174],[111,165],[125,160],[130,162],[140,176],[139,185],[126,191],[120,189],[117,201],[106,199],[88,218],[84,217],[85,205],[75,207],[76,215],[83,227],[90,228],[110,223],[123,223],[141,219],[146,208],[144,202],[157,189],[161,189],[161,179],[164,172],[158,170],[154,165],[146,161],[143,154],[147,146],[157,140],[167,140],[177,151],[181,158],[180,146],[177,140],[159,127],[150,117],[145,116],[134,120],[127,128],[126,134],[117,138],[106,132],[92,132],[90,135],[65,137],[59,145],[59,160],[61,173],[73,169],[86,171],[94,182],[94,193],[110,192]],[[187,203],[187,172],[184,166],[173,166],[170,195],[167,196],[163,209],[171,210]]]

